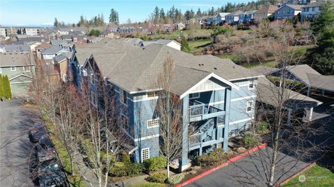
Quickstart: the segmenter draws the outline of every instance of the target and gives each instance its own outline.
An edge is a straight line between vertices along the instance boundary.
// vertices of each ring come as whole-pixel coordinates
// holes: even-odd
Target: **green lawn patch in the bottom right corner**
[[[301,177],[300,177],[301,176]],[[303,177],[305,176],[305,177]],[[300,180],[305,180],[301,182]],[[315,165],[308,170],[305,170],[288,181],[283,186],[303,186],[303,187],[313,187],[313,186],[333,186],[334,185],[334,173],[319,165]]]

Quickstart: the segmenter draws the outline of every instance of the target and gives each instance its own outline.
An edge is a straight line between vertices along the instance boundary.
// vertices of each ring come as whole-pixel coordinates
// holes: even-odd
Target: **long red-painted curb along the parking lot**
[[[191,179],[185,181],[185,182],[182,183],[182,184],[178,184],[178,185],[175,186],[175,187],[182,187],[182,186],[186,186],[187,184],[191,184],[191,183],[193,183],[193,181],[196,181],[196,180],[200,179],[201,177],[204,177],[205,175],[209,175],[210,173],[212,173],[212,172],[214,172],[214,171],[216,171],[216,170],[219,170],[219,169],[221,169],[221,168],[223,168],[223,167],[225,167],[225,166],[228,166],[228,164],[230,164],[230,163],[232,163],[232,162],[234,162],[234,161],[237,161],[237,160],[239,160],[239,159],[241,159],[241,158],[243,158],[243,157],[246,157],[246,156],[249,155],[250,153],[255,152],[255,151],[257,151],[257,150],[260,150],[260,149],[262,149],[262,148],[265,148],[266,146],[267,146],[267,143],[263,143],[263,144],[261,144],[261,145],[258,145],[258,146],[256,146],[255,148],[252,148],[252,149],[250,149],[250,150],[244,152],[243,154],[238,155],[237,157],[233,157],[233,158],[229,159],[228,161],[222,163],[220,166],[217,166],[216,168],[212,168],[212,169],[210,169],[210,170],[207,170],[206,172],[202,172],[200,175],[197,175],[196,177],[193,177],[193,178],[191,178]]]

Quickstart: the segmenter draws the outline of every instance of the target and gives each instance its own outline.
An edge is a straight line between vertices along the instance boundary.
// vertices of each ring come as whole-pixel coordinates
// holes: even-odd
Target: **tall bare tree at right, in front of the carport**
[[[305,166],[304,161],[315,161],[315,153],[324,148],[324,143],[317,144],[314,139],[319,136],[322,127],[303,121],[300,110],[294,112],[319,104],[301,94],[305,92],[305,86],[296,82],[289,73],[289,69],[299,64],[304,55],[297,53],[296,44],[300,38],[289,24],[275,29],[276,37],[268,37],[266,45],[279,62],[280,71],[276,73],[276,78],[269,78],[273,83],[267,78],[260,78],[255,89],[255,132],[258,125],[268,124],[269,133],[262,136],[268,146],[250,154],[247,161],[252,167],[244,168],[241,163],[234,163],[242,174],[233,177],[244,186],[276,186],[294,174],[296,168]]]

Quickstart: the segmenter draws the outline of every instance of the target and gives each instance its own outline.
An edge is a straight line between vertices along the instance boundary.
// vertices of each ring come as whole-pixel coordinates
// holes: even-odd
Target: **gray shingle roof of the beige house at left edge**
[[[0,53],[0,66],[35,65],[31,53]]]

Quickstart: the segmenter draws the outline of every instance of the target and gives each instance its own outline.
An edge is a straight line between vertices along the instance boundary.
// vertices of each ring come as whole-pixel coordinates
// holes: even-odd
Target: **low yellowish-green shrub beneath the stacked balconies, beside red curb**
[[[209,154],[202,154],[196,157],[196,159],[193,159],[193,165],[212,166],[216,165],[217,163],[221,163],[221,161],[224,161],[227,158],[228,157],[223,149],[218,148],[216,150],[213,150],[212,152],[209,152]]]

